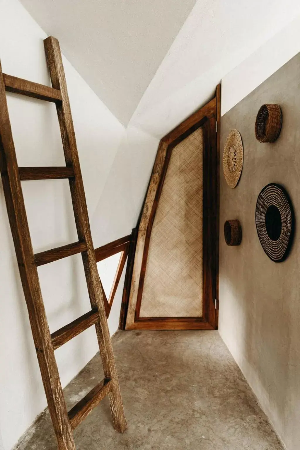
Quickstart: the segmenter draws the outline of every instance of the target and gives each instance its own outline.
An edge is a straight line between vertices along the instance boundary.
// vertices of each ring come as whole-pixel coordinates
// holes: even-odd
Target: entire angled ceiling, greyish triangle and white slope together
[[[156,137],[300,14],[299,0],[20,1],[119,121]]]

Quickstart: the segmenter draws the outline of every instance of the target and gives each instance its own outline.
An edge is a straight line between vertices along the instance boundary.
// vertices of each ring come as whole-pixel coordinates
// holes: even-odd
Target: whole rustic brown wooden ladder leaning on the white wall
[[[108,395],[110,401],[114,428],[119,432],[124,432],[126,420],[90,232],[62,55],[58,40],[54,37],[50,36],[45,39],[44,45],[52,88],[6,75],[2,73],[0,64],[0,171],[33,340],[49,412],[58,440],[58,448],[59,450],[75,450],[72,430],[106,395]],[[65,167],[18,167],[9,121],[6,90],[56,104],[66,161]],[[68,178],[69,180],[78,242],[34,254],[21,180],[61,178]],[[91,311],[50,334],[37,266],[76,253],[81,253],[82,256]],[[96,327],[105,378],[72,410],[67,412],[54,350],[91,325]]]

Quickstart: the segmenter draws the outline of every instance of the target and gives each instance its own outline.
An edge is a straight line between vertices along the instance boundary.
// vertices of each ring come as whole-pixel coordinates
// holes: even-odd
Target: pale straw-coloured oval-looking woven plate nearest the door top
[[[240,179],[243,161],[244,150],[241,135],[237,130],[231,130],[223,152],[223,171],[230,188],[235,188]]]

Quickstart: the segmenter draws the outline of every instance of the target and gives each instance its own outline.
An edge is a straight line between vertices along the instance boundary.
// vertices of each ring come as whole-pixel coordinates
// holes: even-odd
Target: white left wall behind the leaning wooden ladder
[[[45,33],[17,0],[0,1],[0,58],[5,73],[49,84]],[[106,185],[124,127],[63,58],[95,247],[109,242],[110,217],[94,212]],[[53,103],[7,95],[20,166],[63,165],[63,148]],[[40,252],[77,240],[67,180],[22,182],[33,247]],[[121,221],[121,219],[120,219]],[[121,231],[123,231],[121,229]],[[130,232],[130,228],[126,231]],[[125,233],[126,234],[126,233]],[[95,237],[96,236],[96,237]],[[117,238],[122,234],[116,233]],[[101,241],[101,242],[100,242]],[[0,184],[0,448],[10,450],[46,406],[27,307]],[[106,274],[115,270],[108,262]],[[108,270],[108,275],[107,275]],[[80,255],[39,268],[51,332],[89,311]],[[110,276],[110,275],[109,275]],[[123,275],[124,279],[124,275]],[[120,286],[122,285],[122,279]],[[117,329],[121,288],[109,318]],[[63,386],[98,351],[94,327],[55,352]]]

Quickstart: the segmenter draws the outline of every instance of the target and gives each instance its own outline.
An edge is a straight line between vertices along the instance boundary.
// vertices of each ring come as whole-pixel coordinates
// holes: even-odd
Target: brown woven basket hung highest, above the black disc
[[[274,142],[282,127],[282,110],[277,104],[265,104],[255,121],[255,137],[259,142]]]

